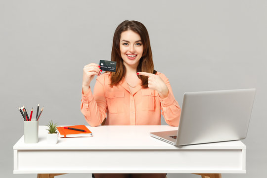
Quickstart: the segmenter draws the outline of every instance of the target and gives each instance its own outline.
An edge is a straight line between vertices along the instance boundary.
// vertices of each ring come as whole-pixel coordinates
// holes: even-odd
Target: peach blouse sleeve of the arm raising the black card
[[[91,127],[99,126],[107,114],[107,102],[105,98],[104,77],[97,78],[93,94],[91,88],[86,93],[82,92],[81,112]]]

